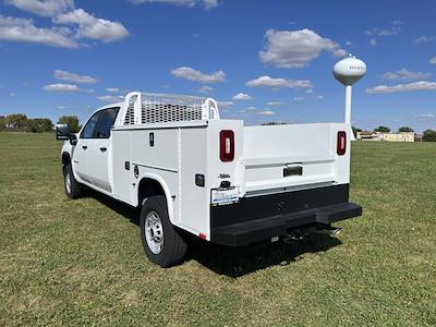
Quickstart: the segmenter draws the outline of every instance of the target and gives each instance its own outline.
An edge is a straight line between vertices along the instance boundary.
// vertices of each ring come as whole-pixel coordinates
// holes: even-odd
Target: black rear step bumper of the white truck
[[[211,207],[210,214],[211,242],[235,247],[286,235],[292,228],[358,217],[362,207],[348,202],[347,184],[241,199]]]

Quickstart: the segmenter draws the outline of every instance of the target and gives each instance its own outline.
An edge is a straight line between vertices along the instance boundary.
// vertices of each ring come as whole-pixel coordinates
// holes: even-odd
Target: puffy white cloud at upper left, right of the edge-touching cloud
[[[83,9],[60,14],[53,22],[57,24],[77,24],[77,38],[111,43],[129,36],[129,31],[121,23],[97,19]]]

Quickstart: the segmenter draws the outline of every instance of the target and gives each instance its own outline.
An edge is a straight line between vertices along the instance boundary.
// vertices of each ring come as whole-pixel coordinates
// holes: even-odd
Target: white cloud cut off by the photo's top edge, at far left
[[[74,0],[5,0],[5,3],[46,17],[53,17],[74,8]]]

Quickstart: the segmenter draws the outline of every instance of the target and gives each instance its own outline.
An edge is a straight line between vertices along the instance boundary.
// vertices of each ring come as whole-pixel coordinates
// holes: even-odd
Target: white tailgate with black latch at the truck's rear
[[[347,125],[336,123],[244,128],[246,195],[338,182],[339,130],[348,131]],[[341,169],[348,170],[348,152],[340,159],[344,161]],[[348,171],[344,173],[348,178]]]

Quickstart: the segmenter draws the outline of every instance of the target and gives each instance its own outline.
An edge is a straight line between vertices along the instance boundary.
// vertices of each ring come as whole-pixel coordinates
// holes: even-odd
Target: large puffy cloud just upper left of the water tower
[[[278,68],[304,68],[317,58],[322,51],[342,56],[347,51],[328,38],[311,29],[275,31],[265,34],[266,45],[259,51],[261,61]]]

